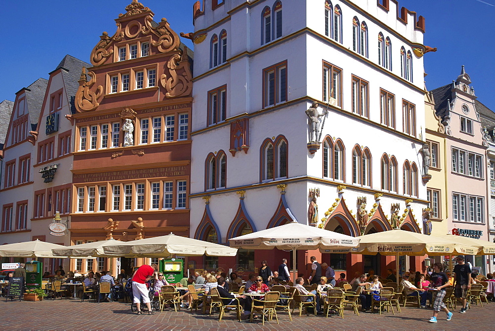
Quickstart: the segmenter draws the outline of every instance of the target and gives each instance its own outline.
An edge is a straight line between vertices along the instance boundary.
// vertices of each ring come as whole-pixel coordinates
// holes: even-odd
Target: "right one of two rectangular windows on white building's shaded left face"
[[[287,101],[287,61],[263,69],[263,108]]]

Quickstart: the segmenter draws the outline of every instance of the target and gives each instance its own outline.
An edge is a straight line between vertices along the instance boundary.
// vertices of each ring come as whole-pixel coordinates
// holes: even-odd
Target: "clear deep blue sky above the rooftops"
[[[4,0],[0,20],[2,64],[0,101],[40,77],[49,78],[66,54],[89,62],[103,31],[115,32],[119,13],[131,0]],[[228,1],[228,0],[227,0]],[[312,0],[320,1],[320,0]],[[323,0],[321,0],[323,1]],[[166,17],[172,29],[192,32],[195,0],[142,0],[159,21]],[[374,0],[371,0],[374,2]],[[438,52],[425,55],[429,90],[446,85],[464,64],[478,100],[495,110],[495,38],[492,34],[495,0],[399,0],[399,5],[426,18],[424,43]],[[192,47],[190,40],[184,40]]]

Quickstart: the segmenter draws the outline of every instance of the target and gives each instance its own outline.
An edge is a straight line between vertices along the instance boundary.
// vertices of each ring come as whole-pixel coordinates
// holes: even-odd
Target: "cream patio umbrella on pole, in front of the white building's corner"
[[[356,247],[359,239],[320,229],[297,221],[229,239],[230,246],[244,249],[292,250],[293,272],[296,280],[296,250],[347,249]]]

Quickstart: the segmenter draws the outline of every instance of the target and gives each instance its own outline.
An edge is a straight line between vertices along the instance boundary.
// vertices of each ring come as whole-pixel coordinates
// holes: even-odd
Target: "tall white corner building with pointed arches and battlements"
[[[213,2],[194,18],[190,236],[226,243],[288,221],[353,236],[421,232],[424,19],[387,0]],[[328,111],[316,143],[314,102]],[[311,255],[348,272],[394,261],[299,252],[300,273]],[[242,273],[282,257],[241,250],[196,263]]]

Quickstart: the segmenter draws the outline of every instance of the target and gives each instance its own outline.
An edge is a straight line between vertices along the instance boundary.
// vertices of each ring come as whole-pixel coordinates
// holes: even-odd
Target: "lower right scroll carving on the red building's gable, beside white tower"
[[[170,76],[163,73],[160,77],[161,86],[167,90],[165,96],[175,98],[189,95],[193,89],[189,62],[182,61],[181,55],[175,54],[168,60],[167,68]]]

